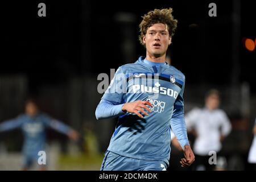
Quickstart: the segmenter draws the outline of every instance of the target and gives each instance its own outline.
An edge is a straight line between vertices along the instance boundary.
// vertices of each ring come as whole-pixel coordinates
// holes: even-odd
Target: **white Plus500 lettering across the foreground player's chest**
[[[150,93],[159,93],[163,95],[167,95],[170,97],[177,98],[178,93],[175,90],[167,89],[165,87],[152,87],[152,86],[145,86],[145,85],[133,85],[133,93],[137,93],[138,91],[141,92],[150,92]]]

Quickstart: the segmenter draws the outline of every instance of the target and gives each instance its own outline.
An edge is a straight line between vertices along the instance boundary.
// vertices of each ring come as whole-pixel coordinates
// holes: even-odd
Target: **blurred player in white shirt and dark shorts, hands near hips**
[[[215,165],[209,164],[210,151],[221,151],[221,142],[230,133],[232,126],[225,111],[218,109],[220,93],[212,89],[205,96],[205,107],[195,108],[185,115],[188,132],[195,134],[193,150],[196,162],[193,170],[213,170]]]

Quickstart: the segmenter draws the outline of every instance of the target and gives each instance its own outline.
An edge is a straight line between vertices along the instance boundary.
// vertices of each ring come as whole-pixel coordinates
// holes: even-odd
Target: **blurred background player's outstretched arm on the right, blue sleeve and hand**
[[[79,138],[79,133],[68,125],[65,125],[65,123],[51,117],[46,117],[45,121],[48,127],[67,135],[72,140],[77,140]]]

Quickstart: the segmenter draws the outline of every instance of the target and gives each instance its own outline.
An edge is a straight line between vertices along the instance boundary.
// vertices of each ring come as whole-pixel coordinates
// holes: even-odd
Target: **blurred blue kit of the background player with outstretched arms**
[[[0,132],[9,131],[16,128],[22,129],[24,135],[23,155],[25,163],[30,163],[30,160],[38,158],[39,151],[46,150],[46,128],[51,127],[63,134],[68,134],[71,130],[67,125],[52,119],[47,114],[39,113],[31,118],[27,114],[21,114],[18,117],[0,123]],[[28,162],[29,159],[29,162]],[[28,164],[24,164],[28,166]]]

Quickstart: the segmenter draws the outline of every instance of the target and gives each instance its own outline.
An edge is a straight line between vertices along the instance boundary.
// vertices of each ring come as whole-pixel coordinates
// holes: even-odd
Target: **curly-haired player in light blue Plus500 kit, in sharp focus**
[[[184,150],[181,166],[195,160],[184,121],[185,76],[166,63],[177,26],[171,13],[155,9],[143,16],[139,40],[146,57],[119,67],[97,106],[97,119],[119,117],[101,170],[166,170],[171,128]]]

